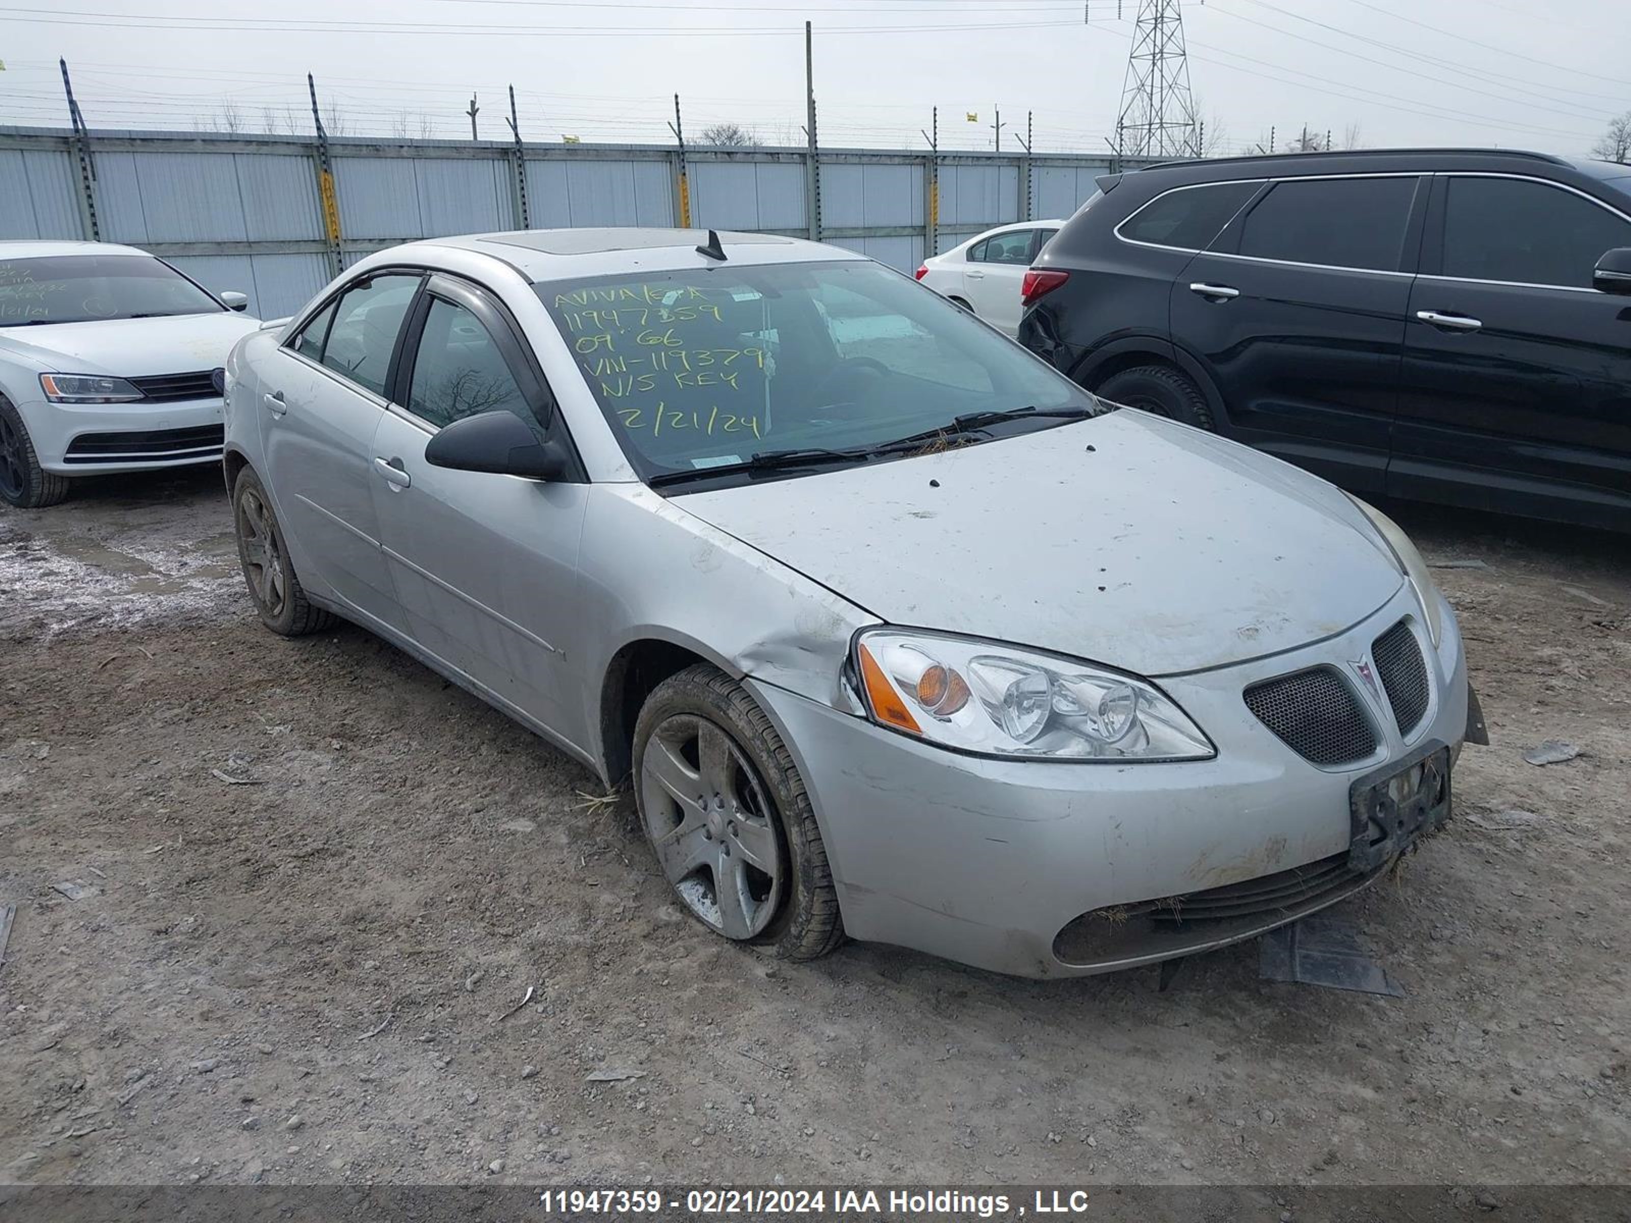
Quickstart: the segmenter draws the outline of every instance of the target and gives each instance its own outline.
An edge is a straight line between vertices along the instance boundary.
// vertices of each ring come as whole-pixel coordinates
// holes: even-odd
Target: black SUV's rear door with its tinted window
[[[1271,183],[1178,277],[1173,341],[1212,375],[1233,437],[1381,491],[1427,183]]]

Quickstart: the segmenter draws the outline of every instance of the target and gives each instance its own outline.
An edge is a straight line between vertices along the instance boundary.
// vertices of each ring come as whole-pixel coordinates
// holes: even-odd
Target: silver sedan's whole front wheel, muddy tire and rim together
[[[809,960],[843,943],[804,779],[776,727],[714,667],[651,693],[634,724],[634,804],[682,905],[736,943]]]

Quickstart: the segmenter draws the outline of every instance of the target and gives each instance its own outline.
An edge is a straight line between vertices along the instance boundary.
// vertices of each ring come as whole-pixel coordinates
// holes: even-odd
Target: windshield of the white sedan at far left
[[[225,310],[220,302],[178,271],[145,256],[0,259],[0,326],[210,315],[220,310]]]

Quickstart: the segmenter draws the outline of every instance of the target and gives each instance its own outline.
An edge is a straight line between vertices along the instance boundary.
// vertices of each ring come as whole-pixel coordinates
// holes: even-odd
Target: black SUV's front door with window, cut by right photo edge
[[[1442,174],[1409,303],[1388,491],[1631,523],[1631,219],[1559,183]]]

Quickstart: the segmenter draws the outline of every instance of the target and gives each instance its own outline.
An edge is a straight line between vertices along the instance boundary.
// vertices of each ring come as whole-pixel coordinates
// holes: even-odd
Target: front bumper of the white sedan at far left
[[[18,404],[39,465],[64,476],[219,463],[222,401]]]

